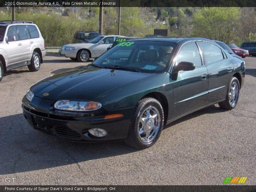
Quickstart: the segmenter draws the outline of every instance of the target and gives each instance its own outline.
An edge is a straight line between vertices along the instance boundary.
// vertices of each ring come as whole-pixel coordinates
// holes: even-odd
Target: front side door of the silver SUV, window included
[[[16,26],[13,25],[8,28],[6,40],[8,55],[7,68],[9,68],[11,65],[20,62],[22,59],[22,44]]]

